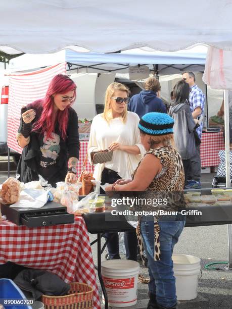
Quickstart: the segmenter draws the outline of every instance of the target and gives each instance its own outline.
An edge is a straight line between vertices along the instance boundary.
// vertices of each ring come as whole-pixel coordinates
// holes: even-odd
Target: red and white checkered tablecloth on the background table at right
[[[201,138],[201,166],[218,166],[218,152],[225,149],[223,133],[202,133]]]

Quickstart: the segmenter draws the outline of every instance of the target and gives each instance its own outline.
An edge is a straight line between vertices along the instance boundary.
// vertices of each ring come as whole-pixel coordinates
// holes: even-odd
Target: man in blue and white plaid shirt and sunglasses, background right
[[[205,95],[202,90],[195,84],[196,77],[193,72],[184,72],[182,80],[185,80],[190,85],[190,110],[194,119],[199,119],[205,108]],[[197,128],[197,133],[201,139],[203,122],[201,121]],[[191,158],[191,170],[185,180],[185,188],[187,189],[200,189],[201,188],[201,157],[200,157],[200,144],[196,145],[196,155]]]

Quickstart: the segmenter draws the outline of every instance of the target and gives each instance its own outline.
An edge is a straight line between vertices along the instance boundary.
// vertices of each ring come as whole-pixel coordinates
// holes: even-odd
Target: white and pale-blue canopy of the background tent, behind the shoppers
[[[181,70],[204,71],[206,46],[197,46],[179,52],[154,52],[149,49],[132,49],[120,54],[77,53],[64,49],[54,54],[25,54],[10,61],[11,72],[32,70],[62,62],[71,64],[70,69],[87,69],[88,73],[127,73],[130,66],[147,65],[159,74],[175,74]]]

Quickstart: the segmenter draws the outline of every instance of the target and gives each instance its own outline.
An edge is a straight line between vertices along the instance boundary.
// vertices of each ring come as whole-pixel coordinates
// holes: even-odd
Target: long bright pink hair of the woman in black
[[[72,90],[74,90],[74,102],[76,98],[76,85],[71,78],[67,75],[58,74],[51,80],[45,97],[42,100],[42,114],[39,120],[35,123],[33,131],[40,129],[41,133],[47,132],[47,138],[52,137],[51,135],[52,132],[55,132],[56,125],[53,94],[63,94]],[[63,140],[65,140],[67,136],[68,108],[70,108],[71,105],[69,105],[64,111],[59,110],[57,112],[57,120]]]

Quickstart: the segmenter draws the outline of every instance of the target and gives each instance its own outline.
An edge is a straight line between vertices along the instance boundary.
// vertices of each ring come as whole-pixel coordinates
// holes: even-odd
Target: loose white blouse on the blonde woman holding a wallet
[[[146,152],[140,142],[140,131],[138,130],[140,118],[135,113],[127,113],[126,123],[122,122],[121,117],[114,118],[109,123],[103,118],[103,114],[94,117],[90,129],[88,153],[108,149],[111,143],[118,142],[122,145],[138,146],[141,154],[132,155],[119,149],[114,150],[112,161],[105,164],[96,164],[94,171],[96,180],[101,181],[104,167],[117,172],[122,178],[131,178],[132,172]]]

